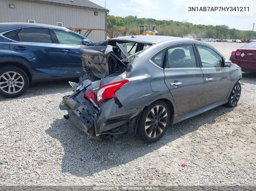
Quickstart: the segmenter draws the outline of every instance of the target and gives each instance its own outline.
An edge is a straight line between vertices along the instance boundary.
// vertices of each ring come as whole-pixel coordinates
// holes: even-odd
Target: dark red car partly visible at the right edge
[[[240,66],[243,72],[256,72],[256,43],[248,43],[232,51],[230,61]]]

